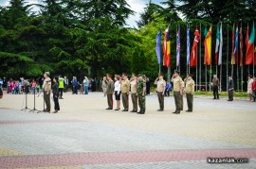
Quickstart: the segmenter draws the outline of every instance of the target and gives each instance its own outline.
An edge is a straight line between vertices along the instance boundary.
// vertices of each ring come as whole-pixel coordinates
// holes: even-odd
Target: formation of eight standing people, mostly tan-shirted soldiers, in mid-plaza
[[[130,112],[137,112],[138,114],[144,114],[146,111],[146,77],[142,74],[136,76],[133,74],[128,79],[125,73],[122,76],[115,76],[116,82],[112,79],[111,75],[107,75],[104,78],[105,93],[107,95],[108,108],[106,110],[113,110],[114,100],[113,94],[116,96],[117,109],[119,110],[119,100],[121,94],[121,100],[123,104],[122,111],[129,111],[129,95],[131,93],[133,110]],[[183,95],[186,93],[188,110],[187,112],[192,112],[193,105],[193,94],[194,94],[194,81],[192,75],[188,75],[184,81],[179,76],[178,71],[174,71],[171,81],[174,83],[174,102],[175,102],[175,111],[173,113],[179,114],[183,110]],[[164,110],[164,96],[166,89],[166,81],[163,78],[163,74],[158,74],[158,77],[155,79],[156,93],[159,102],[159,109],[157,111]],[[119,89],[120,88],[120,89]],[[139,110],[138,110],[138,107]]]

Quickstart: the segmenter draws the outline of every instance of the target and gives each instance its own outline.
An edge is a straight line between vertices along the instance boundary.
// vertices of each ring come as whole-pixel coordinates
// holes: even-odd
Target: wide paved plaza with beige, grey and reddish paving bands
[[[27,95],[28,109],[33,98]],[[256,168],[256,103],[245,99],[195,97],[191,113],[184,97],[184,110],[174,114],[173,96],[159,112],[150,95],[144,115],[105,110],[102,93],[64,93],[55,114],[22,110],[25,100],[0,100],[1,169]],[[43,110],[42,95],[35,103]],[[249,161],[213,164],[208,157]]]

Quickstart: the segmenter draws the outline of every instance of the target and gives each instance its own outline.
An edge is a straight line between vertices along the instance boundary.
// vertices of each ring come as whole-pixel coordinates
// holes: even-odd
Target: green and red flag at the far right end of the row
[[[254,57],[254,39],[255,39],[255,28],[254,23],[250,32],[250,36],[247,42],[247,55],[246,55],[246,64],[251,64]]]

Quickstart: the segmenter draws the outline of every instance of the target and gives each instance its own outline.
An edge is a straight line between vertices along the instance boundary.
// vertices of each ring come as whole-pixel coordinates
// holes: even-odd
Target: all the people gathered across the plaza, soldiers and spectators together
[[[172,85],[172,83],[173,85]],[[187,112],[192,112],[193,110],[193,94],[194,94],[194,81],[192,75],[189,74],[186,78],[182,79],[179,76],[178,71],[174,71],[171,82],[166,82],[163,78],[163,74],[158,74],[155,79],[156,93],[159,102],[158,111],[164,110],[164,97],[170,96],[170,92],[174,91],[174,104],[175,104],[175,114],[179,114],[183,110],[183,95],[186,94],[188,110]],[[219,88],[220,83],[216,75],[212,78],[212,90],[213,99],[219,99]],[[97,87],[98,86],[98,87]],[[60,110],[59,99],[63,99],[63,93],[66,93],[69,88],[69,80],[66,76],[55,76],[52,81],[49,78],[49,73],[46,72],[44,77],[39,77],[37,79],[24,79],[21,77],[19,80],[12,80],[9,78],[7,81],[6,77],[3,79],[0,77],[0,98],[3,96],[3,87],[7,89],[7,93],[21,94],[21,93],[44,93],[44,100],[46,103],[46,112],[50,112],[50,94],[53,93],[54,100],[54,111],[58,112]],[[133,110],[130,112],[137,112],[139,114],[144,114],[146,110],[145,95],[150,94],[150,80],[148,77],[139,74],[136,76],[133,74],[130,79],[127,74],[123,73],[121,76],[115,75],[112,79],[111,75],[103,76],[100,81],[84,76],[82,82],[77,80],[76,76],[73,76],[71,80],[72,94],[78,94],[78,90],[82,94],[88,94],[89,90],[92,92],[96,91],[96,88],[107,96],[108,108],[106,110],[113,110],[113,95],[115,95],[115,100],[117,102],[117,108],[115,110],[120,110],[120,100],[122,101],[123,110],[129,111],[129,95],[131,95],[131,101],[133,105]],[[228,101],[233,101],[233,91],[234,84],[233,79],[229,76],[228,80],[228,91],[229,99]],[[249,95],[249,101],[256,101],[256,78],[248,76],[247,81],[247,93]],[[139,110],[137,107],[139,106]]]

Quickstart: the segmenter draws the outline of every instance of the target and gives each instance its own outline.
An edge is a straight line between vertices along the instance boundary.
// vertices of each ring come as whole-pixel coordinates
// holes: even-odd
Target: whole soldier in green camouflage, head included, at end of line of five
[[[137,76],[137,97],[138,97],[138,106],[139,106],[139,112],[138,114],[144,114],[146,110],[146,81],[142,78],[143,75],[139,74]]]

